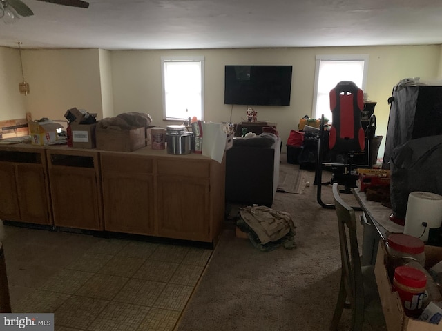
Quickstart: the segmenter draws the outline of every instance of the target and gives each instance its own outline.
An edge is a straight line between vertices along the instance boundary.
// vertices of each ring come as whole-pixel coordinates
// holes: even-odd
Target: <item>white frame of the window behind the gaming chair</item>
[[[368,75],[368,54],[334,54],[334,55],[316,55],[316,68],[315,68],[315,82],[314,82],[314,94],[313,94],[313,106],[311,109],[311,114],[313,118],[319,119],[322,114],[316,113],[316,103],[318,101],[318,83],[319,83],[319,68],[321,61],[364,61],[362,86],[359,86],[363,92],[365,92],[365,87],[367,86],[367,75]],[[332,120],[332,119],[330,119]]]

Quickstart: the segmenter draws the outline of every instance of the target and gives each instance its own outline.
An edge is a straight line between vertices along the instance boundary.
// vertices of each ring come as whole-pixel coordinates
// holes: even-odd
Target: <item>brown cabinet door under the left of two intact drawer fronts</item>
[[[155,234],[153,176],[103,173],[104,230]]]

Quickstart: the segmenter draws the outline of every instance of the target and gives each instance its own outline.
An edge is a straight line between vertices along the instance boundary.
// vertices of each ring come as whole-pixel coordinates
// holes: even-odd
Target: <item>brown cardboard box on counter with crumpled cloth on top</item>
[[[131,130],[95,129],[95,143],[99,150],[133,152],[146,146],[146,128]]]

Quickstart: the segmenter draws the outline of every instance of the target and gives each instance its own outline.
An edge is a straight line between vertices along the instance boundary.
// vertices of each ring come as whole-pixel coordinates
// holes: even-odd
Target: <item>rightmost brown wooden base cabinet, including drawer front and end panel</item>
[[[224,220],[224,160],[158,159],[158,235],[218,240]]]

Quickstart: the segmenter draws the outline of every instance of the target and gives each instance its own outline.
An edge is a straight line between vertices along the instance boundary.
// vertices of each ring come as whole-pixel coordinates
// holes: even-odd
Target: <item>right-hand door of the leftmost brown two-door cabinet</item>
[[[17,164],[17,191],[22,222],[52,224],[48,188],[41,164]]]

